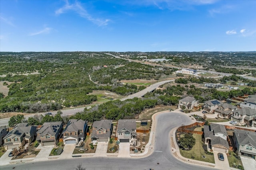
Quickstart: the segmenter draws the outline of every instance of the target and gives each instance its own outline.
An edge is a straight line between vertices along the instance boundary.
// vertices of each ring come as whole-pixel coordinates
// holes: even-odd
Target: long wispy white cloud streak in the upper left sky
[[[67,11],[74,11],[77,14],[80,15],[80,17],[82,18],[86,18],[89,21],[92,21],[93,23],[99,25],[99,26],[103,26],[103,25],[108,25],[108,21],[110,21],[109,19],[99,19],[99,18],[93,18],[90,14],[88,14],[88,12],[82,7],[82,5],[79,2],[75,2],[74,4],[69,4],[68,0],[66,0],[66,4],[62,7],[59,8],[58,10],[55,11],[56,15],[59,14],[63,14]]]

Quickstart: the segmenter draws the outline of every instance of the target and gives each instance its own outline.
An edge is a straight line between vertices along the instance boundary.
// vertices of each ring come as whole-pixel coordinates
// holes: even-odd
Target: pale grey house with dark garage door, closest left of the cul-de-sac
[[[135,119],[119,119],[116,135],[120,142],[132,142],[136,139],[137,133]]]

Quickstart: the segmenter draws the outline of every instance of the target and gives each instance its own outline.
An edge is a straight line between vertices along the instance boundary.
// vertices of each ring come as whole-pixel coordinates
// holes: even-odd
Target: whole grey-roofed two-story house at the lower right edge
[[[256,159],[256,132],[234,129],[233,141],[238,154]]]

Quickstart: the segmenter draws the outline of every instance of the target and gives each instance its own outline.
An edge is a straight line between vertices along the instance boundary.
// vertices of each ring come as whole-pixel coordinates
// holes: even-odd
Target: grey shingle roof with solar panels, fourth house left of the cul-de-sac
[[[58,129],[60,129],[61,124],[62,121],[45,122],[36,133],[40,133],[40,136],[46,134],[55,135],[58,132]]]

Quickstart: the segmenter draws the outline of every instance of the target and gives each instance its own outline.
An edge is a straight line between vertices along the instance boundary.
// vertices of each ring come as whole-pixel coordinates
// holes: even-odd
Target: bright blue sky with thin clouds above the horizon
[[[0,51],[256,51],[256,0],[0,0]]]

